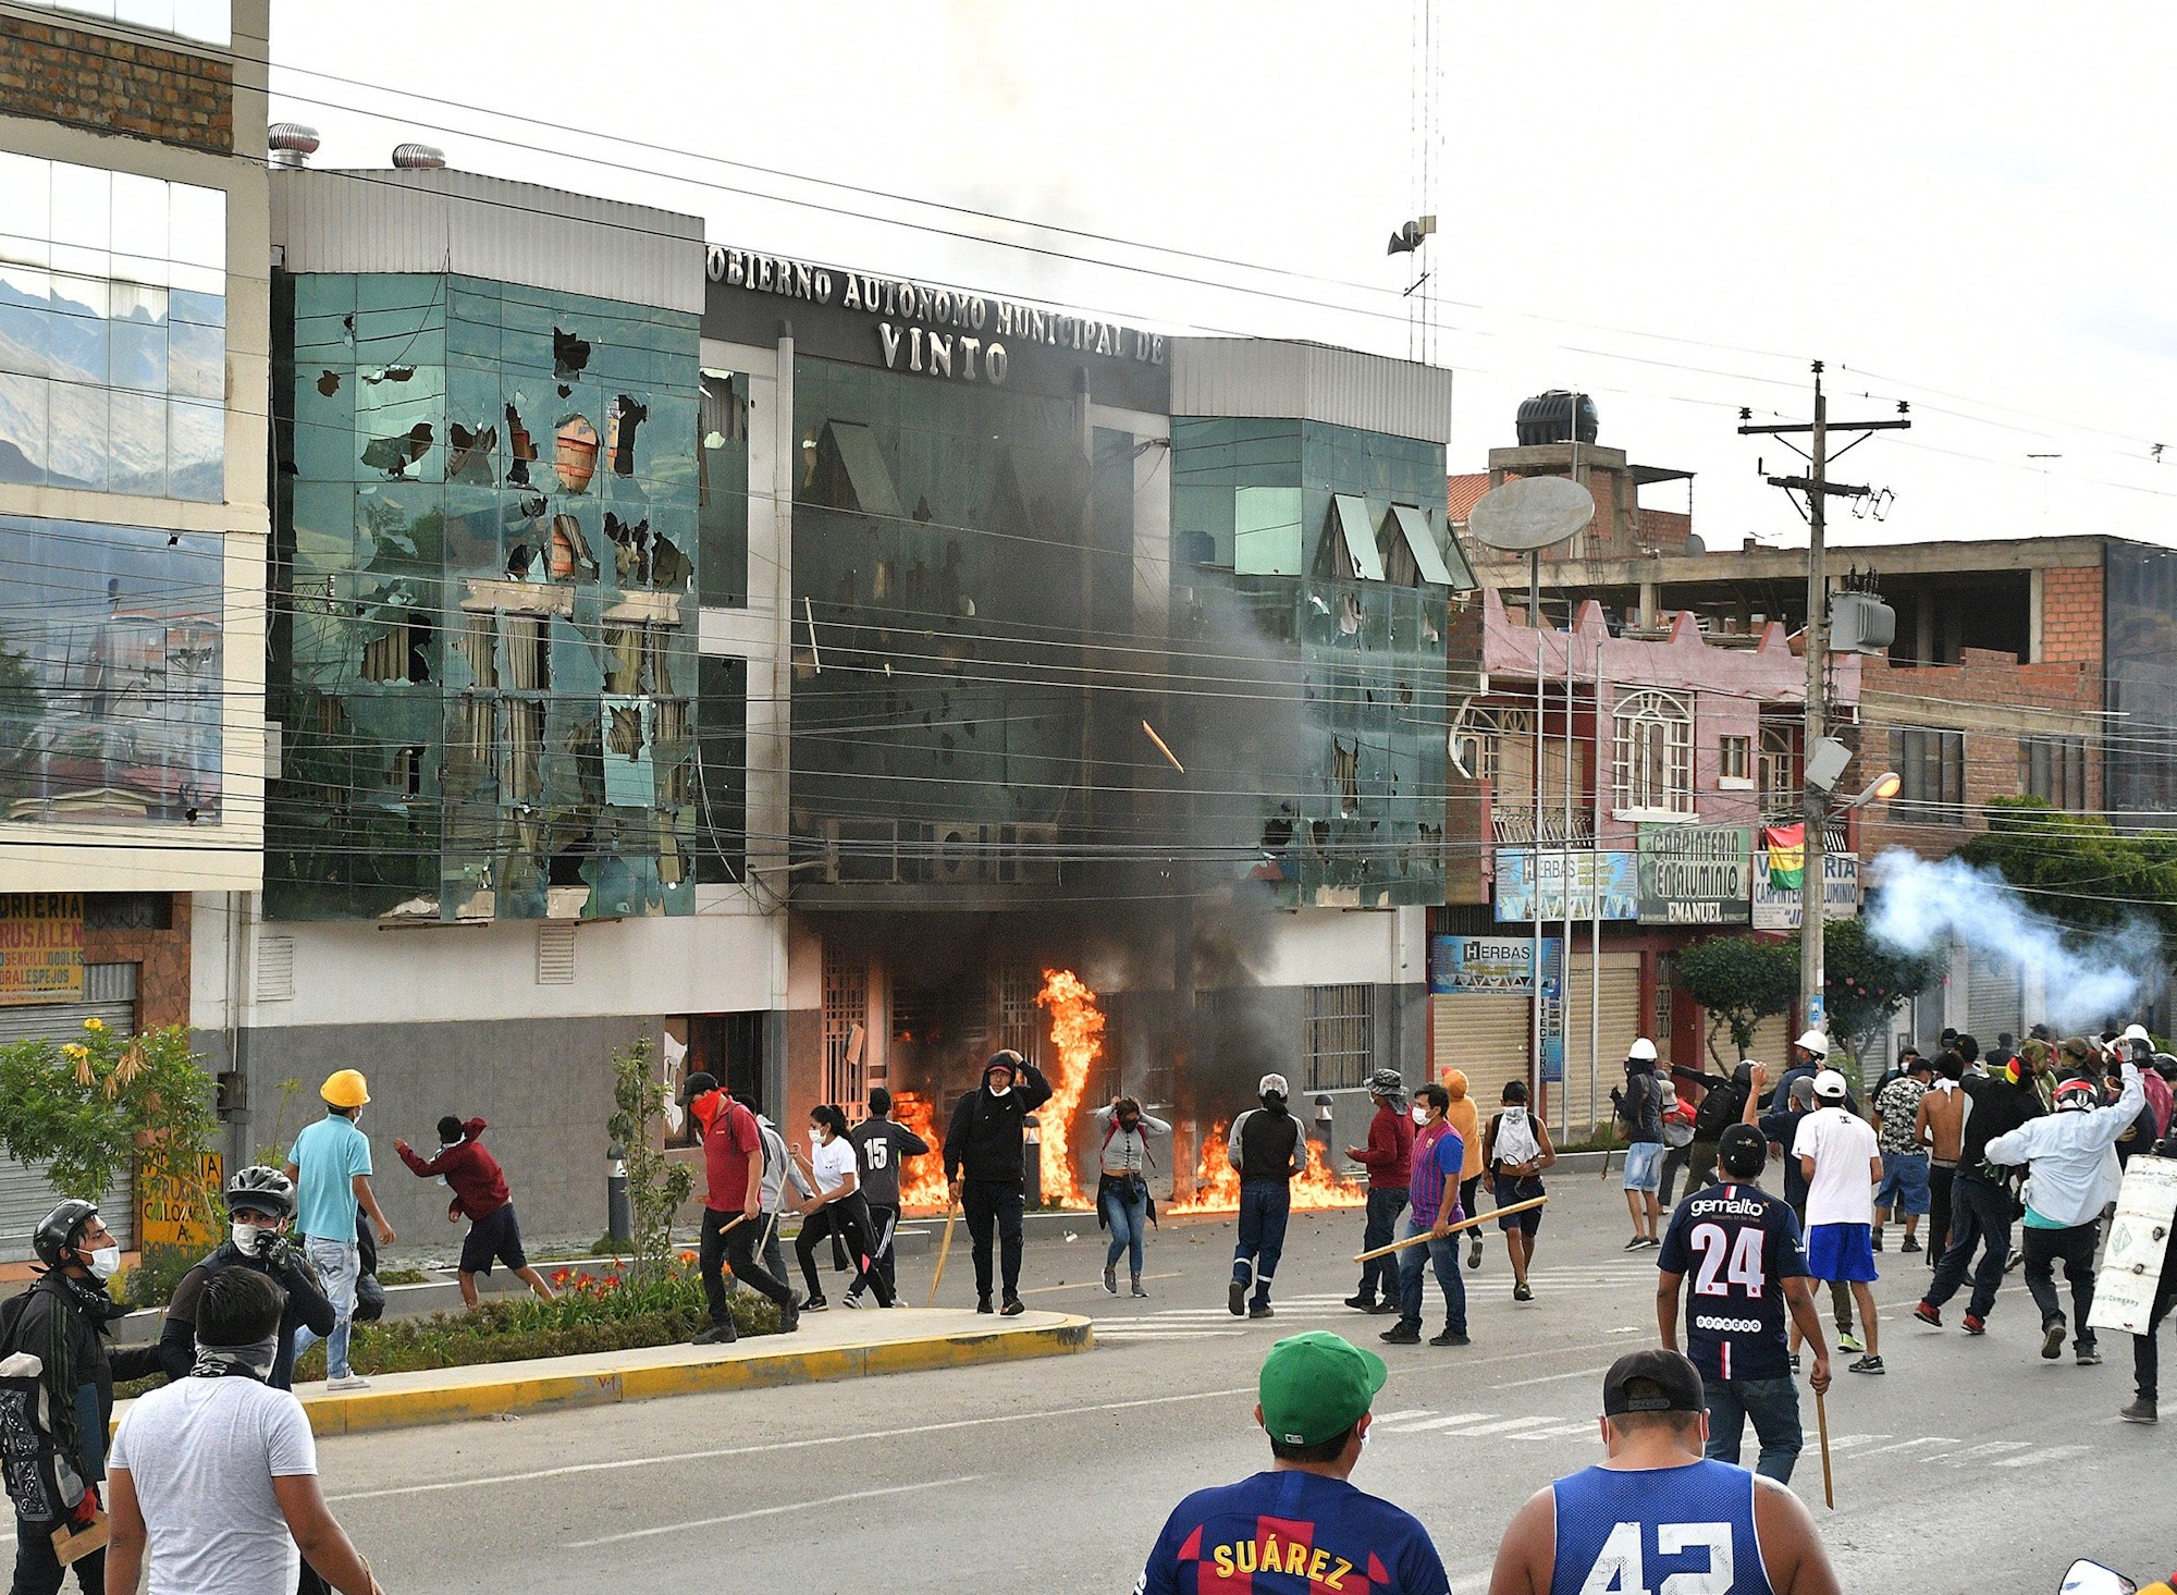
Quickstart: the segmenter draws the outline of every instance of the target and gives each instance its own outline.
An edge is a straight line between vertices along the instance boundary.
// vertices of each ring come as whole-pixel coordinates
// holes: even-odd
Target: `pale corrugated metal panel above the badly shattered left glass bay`
[[[475,172],[272,172],[290,272],[455,272],[703,314],[703,220]]]

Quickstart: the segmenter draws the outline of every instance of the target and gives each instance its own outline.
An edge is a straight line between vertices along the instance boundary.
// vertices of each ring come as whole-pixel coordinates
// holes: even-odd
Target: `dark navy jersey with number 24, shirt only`
[[[1685,1275],[1685,1355],[1709,1379],[1787,1379],[1783,1281],[1807,1273],[1798,1218],[1759,1185],[1709,1185],[1670,1216],[1655,1266]]]

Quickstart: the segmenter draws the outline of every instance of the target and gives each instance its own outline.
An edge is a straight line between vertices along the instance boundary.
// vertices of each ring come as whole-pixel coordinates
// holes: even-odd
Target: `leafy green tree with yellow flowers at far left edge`
[[[85,1020],[74,1042],[0,1046],[0,1146],[67,1196],[98,1201],[142,1168],[211,1216],[216,1133],[213,1081],[179,1024],[122,1035]]]

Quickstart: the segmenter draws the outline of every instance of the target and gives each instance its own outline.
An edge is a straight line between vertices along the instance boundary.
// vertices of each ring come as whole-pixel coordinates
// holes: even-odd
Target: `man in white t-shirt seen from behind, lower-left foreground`
[[[383,1595],[318,1490],[303,1403],[266,1386],[279,1286],[222,1268],[196,1301],[196,1366],[137,1399],[107,1456],[107,1588],[137,1588],[148,1551],[161,1595],[292,1595],[300,1547],[342,1595]]]

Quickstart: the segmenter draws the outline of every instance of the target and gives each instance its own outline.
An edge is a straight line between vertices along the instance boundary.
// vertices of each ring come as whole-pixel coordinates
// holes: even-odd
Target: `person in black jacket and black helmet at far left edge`
[[[109,1325],[128,1307],[107,1294],[107,1279],[120,1268],[120,1244],[107,1231],[96,1203],[65,1201],[46,1214],[30,1235],[46,1264],[44,1275],[11,1305],[11,1331],[0,1340],[0,1360],[26,1353],[44,1366],[52,1438],[72,1480],[98,1488],[107,1477],[107,1429],[113,1423],[113,1381],[148,1379],[161,1373],[157,1347],[107,1351]],[[9,1484],[17,1480],[13,1464]],[[87,1519],[91,1497],[76,1501],[15,1503],[15,1582],[11,1595],[54,1595],[67,1571],[52,1549],[52,1532],[72,1519]],[[107,1554],[91,1551],[74,1562],[85,1595],[104,1595]]]

